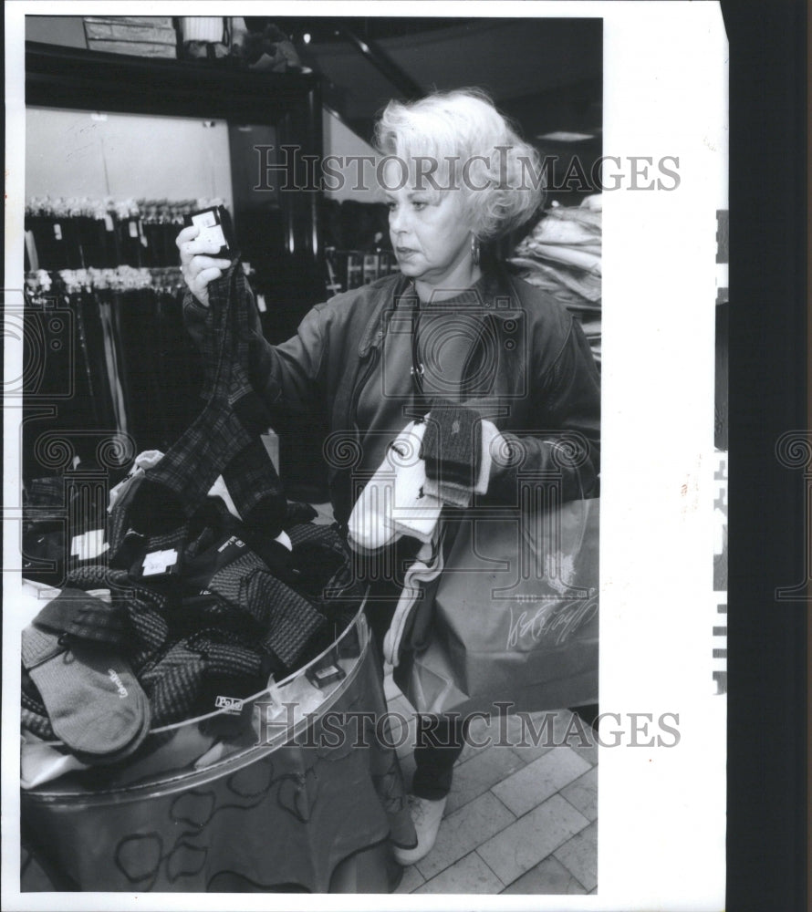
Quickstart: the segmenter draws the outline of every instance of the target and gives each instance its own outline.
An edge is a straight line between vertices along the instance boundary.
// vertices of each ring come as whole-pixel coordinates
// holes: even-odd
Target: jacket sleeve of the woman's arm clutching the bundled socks
[[[563,500],[596,496],[600,472],[600,378],[578,321],[569,317],[551,363],[531,357],[533,428],[503,431],[488,494],[516,503],[524,477],[560,478]]]

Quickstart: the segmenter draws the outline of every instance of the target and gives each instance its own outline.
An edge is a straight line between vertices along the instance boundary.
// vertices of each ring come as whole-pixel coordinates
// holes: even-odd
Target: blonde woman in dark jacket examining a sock
[[[349,469],[327,454],[333,509],[345,528],[363,482],[385,464],[391,440],[431,409],[473,413],[473,440],[484,440],[479,429],[494,431],[490,453],[502,458],[488,460],[477,503],[515,503],[519,461],[524,470],[555,467],[564,499],[588,494],[599,472],[599,378],[588,344],[563,307],[509,278],[487,255],[488,244],[538,210],[536,150],[477,90],[390,102],[376,144],[387,157],[379,174],[401,275],[314,307],[282,345],[257,333],[250,365],[255,389],[270,407],[326,408],[330,441],[345,434],[357,447]],[[193,336],[201,332],[207,285],[228,265],[208,255],[212,248],[196,236],[195,228],[178,236]],[[583,441],[578,468],[562,470],[554,460],[565,433]],[[481,469],[485,454],[469,456]],[[464,479],[442,477],[442,468],[437,473],[444,490],[463,488],[465,503]],[[408,534],[386,544],[383,550],[399,558],[396,572],[369,574],[368,614],[379,645],[401,593],[402,567],[421,544]],[[442,717],[428,721],[412,783],[418,844],[396,849],[403,865],[431,850],[462,750],[463,726]]]

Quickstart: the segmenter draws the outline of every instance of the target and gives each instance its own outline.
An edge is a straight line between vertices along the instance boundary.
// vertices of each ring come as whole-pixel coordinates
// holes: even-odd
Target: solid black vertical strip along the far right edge
[[[728,910],[807,909],[806,0],[723,2],[730,41]],[[812,505],[812,504],[810,504]],[[701,821],[697,821],[701,826]]]

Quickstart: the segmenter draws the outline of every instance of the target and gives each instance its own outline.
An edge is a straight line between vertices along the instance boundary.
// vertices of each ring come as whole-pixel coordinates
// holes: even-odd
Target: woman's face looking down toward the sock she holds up
[[[386,179],[389,186],[395,183]],[[472,231],[459,190],[430,192],[413,183],[387,191],[389,233],[401,273],[432,287],[470,278]],[[467,285],[463,285],[466,287]]]

